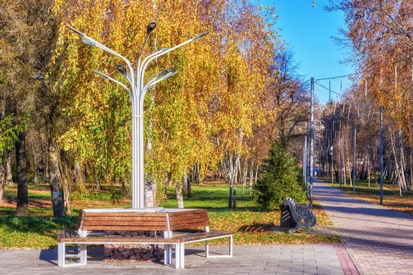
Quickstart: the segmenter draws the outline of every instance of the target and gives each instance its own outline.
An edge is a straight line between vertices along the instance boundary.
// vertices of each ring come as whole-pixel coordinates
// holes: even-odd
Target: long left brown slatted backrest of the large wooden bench
[[[89,212],[82,210],[79,230],[168,231],[167,213]]]

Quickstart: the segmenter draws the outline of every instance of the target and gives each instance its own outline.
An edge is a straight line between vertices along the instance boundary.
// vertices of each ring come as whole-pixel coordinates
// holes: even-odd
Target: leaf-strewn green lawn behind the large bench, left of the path
[[[82,208],[130,207],[131,200],[120,196],[119,186],[102,186],[101,192],[75,193],[71,195],[72,216],[54,219],[47,184],[29,185],[29,214],[15,217],[17,186],[6,186],[5,198],[0,203],[0,248],[54,248],[56,230],[76,229],[78,212]],[[212,230],[233,230],[235,245],[281,244],[281,243],[337,243],[337,237],[319,234],[288,234],[273,232],[279,225],[280,212],[260,212],[251,197],[238,191],[237,210],[228,210],[229,188],[221,183],[193,184],[191,199],[184,199],[185,208],[206,208],[211,219]],[[168,188],[168,200],[160,206],[176,208],[174,188]],[[248,194],[248,190],[246,190]],[[315,201],[317,225],[331,225],[324,210]],[[224,244],[225,240],[211,244]]]

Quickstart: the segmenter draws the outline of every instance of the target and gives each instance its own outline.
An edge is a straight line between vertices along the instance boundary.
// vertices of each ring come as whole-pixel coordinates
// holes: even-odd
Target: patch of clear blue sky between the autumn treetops
[[[326,12],[327,1],[316,0],[315,8],[312,0],[262,0],[262,5],[273,6],[279,16],[275,28],[282,29],[281,39],[290,44],[294,58],[299,63],[299,74],[308,79],[328,78],[352,74],[350,65],[339,62],[346,58],[344,51],[335,45],[331,36],[338,36],[339,27],[345,27],[342,12]],[[348,85],[348,78],[342,78],[343,89]],[[328,87],[328,80],[319,82]],[[331,80],[332,91],[340,91],[340,80]],[[317,92],[317,85],[315,85]],[[331,94],[334,99],[337,95]],[[337,96],[339,97],[339,96]],[[320,103],[328,101],[328,90],[319,87]]]

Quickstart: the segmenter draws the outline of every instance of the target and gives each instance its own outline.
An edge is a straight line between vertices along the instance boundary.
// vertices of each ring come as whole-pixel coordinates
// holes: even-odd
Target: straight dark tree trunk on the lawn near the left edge
[[[25,152],[25,133],[19,135],[16,142],[17,162],[17,207],[16,214],[28,214],[28,159]]]

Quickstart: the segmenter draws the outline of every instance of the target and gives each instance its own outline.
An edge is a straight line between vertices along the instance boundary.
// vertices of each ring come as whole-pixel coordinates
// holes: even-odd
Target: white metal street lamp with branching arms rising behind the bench
[[[153,85],[156,85],[156,83],[159,83],[162,80],[165,80],[174,74],[176,74],[178,71],[173,71],[173,67],[168,67],[167,69],[164,69],[158,76],[155,78],[149,80],[146,84],[144,83],[144,77],[145,77],[145,70],[147,68],[147,65],[151,63],[155,58],[158,58],[164,54],[167,54],[168,52],[171,52],[173,50],[176,50],[178,47],[181,47],[183,45],[186,45],[188,43],[191,43],[192,41],[195,41],[197,39],[200,39],[202,36],[205,34],[209,33],[208,32],[203,32],[202,34],[198,34],[197,36],[193,37],[192,39],[189,39],[185,41],[184,43],[180,43],[179,45],[176,45],[175,47],[171,48],[164,48],[159,50],[158,52],[155,52],[153,54],[150,54],[147,56],[142,61],[142,64],[140,63],[140,59],[142,57],[142,52],[144,50],[144,47],[147,43],[147,40],[149,38],[149,35],[153,30],[156,28],[156,23],[152,22],[149,23],[147,26],[147,34],[145,35],[145,41],[143,42],[142,48],[140,49],[140,54],[138,57],[138,65],[136,67],[136,75],[134,72],[134,67],[132,67],[132,63],[127,60],[127,58],[121,56],[117,52],[114,52],[113,50],[109,49],[105,45],[102,45],[94,39],[91,39],[89,36],[86,36],[82,32],[76,30],[75,28],[68,26],[67,28],[70,28],[70,30],[76,32],[81,38],[83,39],[83,43],[87,45],[92,45],[94,47],[98,47],[105,52],[109,52],[109,54],[113,54],[114,56],[117,56],[118,58],[123,59],[125,61],[127,68],[123,65],[116,65],[116,69],[118,69],[118,72],[125,76],[127,78],[129,85],[131,89],[129,89],[126,85],[123,83],[120,83],[118,80],[115,80],[114,78],[111,78],[110,76],[107,76],[106,74],[103,74],[103,72],[98,72],[96,70],[93,70],[97,74],[100,74],[100,76],[103,76],[104,78],[108,80],[112,80],[114,83],[122,86],[124,89],[129,94],[129,97],[131,98],[131,107],[132,107],[132,208],[133,209],[142,209],[145,208],[144,206],[144,173],[143,173],[143,98],[145,97],[146,92],[150,87]],[[128,74],[129,71],[129,74]]]

